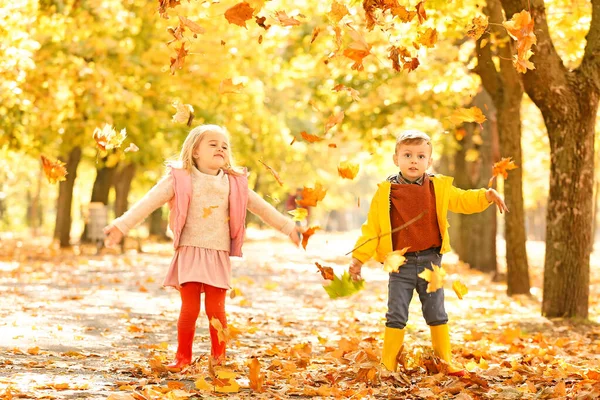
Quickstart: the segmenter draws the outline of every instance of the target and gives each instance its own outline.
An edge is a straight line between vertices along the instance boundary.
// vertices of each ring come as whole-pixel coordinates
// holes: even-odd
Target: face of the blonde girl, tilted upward
[[[221,132],[206,132],[192,153],[196,168],[205,174],[216,175],[229,164],[229,141]]]

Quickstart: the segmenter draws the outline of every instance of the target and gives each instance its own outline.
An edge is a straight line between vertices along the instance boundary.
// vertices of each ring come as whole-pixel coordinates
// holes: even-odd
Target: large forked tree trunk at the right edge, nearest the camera
[[[529,10],[537,45],[534,70],[522,76],[525,91],[542,112],[550,141],[550,194],[542,315],[588,317],[594,126],[600,96],[600,1],[583,59],[568,70],[552,43],[543,0],[501,0],[508,18]]]

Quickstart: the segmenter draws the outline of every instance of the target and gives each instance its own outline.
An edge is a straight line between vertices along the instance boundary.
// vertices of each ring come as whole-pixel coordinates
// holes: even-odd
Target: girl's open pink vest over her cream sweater
[[[173,247],[179,247],[179,238],[185,225],[188,207],[192,200],[192,176],[185,169],[171,168],[175,196],[169,200],[169,227],[173,231]],[[246,210],[248,207],[248,177],[229,174],[229,231],[231,249],[229,255],[242,256],[242,244],[246,233]]]

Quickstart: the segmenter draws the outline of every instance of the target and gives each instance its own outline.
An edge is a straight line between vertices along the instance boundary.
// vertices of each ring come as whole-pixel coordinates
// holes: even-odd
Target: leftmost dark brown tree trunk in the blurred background
[[[81,147],[74,147],[66,160],[67,180],[62,181],[58,187],[56,200],[56,224],[54,237],[59,239],[60,247],[71,245],[71,206],[73,203],[73,186],[77,177],[77,166],[81,160]],[[65,160],[62,160],[65,162]]]

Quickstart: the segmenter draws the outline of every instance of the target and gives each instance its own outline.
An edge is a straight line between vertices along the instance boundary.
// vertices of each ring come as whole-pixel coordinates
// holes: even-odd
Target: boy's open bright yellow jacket
[[[452,185],[454,178],[444,175],[434,175],[430,179],[433,181],[435,190],[435,207],[437,210],[437,220],[442,234],[442,248],[440,252],[450,251],[450,236],[448,234],[448,211],[462,214],[473,214],[484,211],[489,207],[490,202],[485,198],[486,189],[462,190]],[[379,184],[375,196],[371,201],[367,222],[362,226],[362,234],[356,241],[354,247],[373,239],[352,252],[352,257],[360,262],[366,262],[371,257],[383,262],[388,253],[393,250],[392,247],[392,226],[390,222],[390,182]]]

